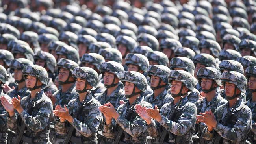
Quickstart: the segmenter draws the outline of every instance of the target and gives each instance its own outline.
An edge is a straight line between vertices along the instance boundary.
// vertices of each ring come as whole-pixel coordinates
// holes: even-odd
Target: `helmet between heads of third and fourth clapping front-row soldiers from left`
[[[167,66],[163,66],[163,65],[150,65],[148,67],[148,71],[147,74],[148,76],[158,76],[159,78],[162,79],[163,82],[169,84],[168,82],[168,75],[170,73],[170,68],[168,68]]]

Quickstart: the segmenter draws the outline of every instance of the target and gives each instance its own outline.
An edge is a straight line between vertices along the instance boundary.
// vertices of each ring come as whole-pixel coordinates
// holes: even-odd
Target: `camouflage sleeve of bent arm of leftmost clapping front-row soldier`
[[[28,128],[37,133],[45,129],[46,126],[48,126],[51,114],[52,102],[45,102],[41,105],[38,113],[35,116],[31,116],[25,110],[23,110],[22,113],[20,113],[19,115],[26,124],[26,126],[28,126]]]

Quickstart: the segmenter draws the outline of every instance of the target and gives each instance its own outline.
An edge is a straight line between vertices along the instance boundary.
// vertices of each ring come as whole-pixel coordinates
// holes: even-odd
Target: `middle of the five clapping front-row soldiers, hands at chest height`
[[[100,106],[100,111],[106,118],[103,135],[114,139],[114,143],[145,144],[147,143],[146,121],[135,113],[134,106],[140,104],[152,108],[141,96],[141,92],[147,89],[147,79],[143,74],[134,71],[125,71],[120,78],[124,83],[125,97],[129,100],[120,105],[117,111],[110,102]]]

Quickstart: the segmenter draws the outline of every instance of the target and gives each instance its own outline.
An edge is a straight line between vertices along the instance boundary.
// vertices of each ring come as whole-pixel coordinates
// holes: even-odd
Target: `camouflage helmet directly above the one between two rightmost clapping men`
[[[196,54],[195,57],[193,57],[193,62],[195,63],[195,65],[197,63],[201,63],[206,67],[212,67],[212,68],[216,67],[215,58],[209,54],[204,54],[204,53]]]

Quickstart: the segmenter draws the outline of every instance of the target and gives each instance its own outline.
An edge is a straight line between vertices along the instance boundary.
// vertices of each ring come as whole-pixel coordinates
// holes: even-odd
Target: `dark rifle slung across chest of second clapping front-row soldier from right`
[[[178,105],[176,105],[175,107],[174,107],[174,109],[171,111],[171,114],[170,114],[170,116],[169,116],[169,120],[171,120],[171,121],[174,121],[174,118],[176,117],[176,115],[177,115],[177,113],[178,113],[178,111],[179,111],[179,109],[180,109],[180,104],[181,104],[181,101],[182,101],[182,99],[183,99],[184,97],[183,96],[181,96],[181,98],[180,98],[180,102],[178,103]],[[168,139],[169,139],[169,137],[171,138],[171,139],[173,139],[174,138],[174,135],[173,135],[173,133],[170,133],[170,132],[168,132],[163,126],[160,126],[160,138],[159,138],[159,144],[163,144],[164,142],[167,142],[168,141]]]

